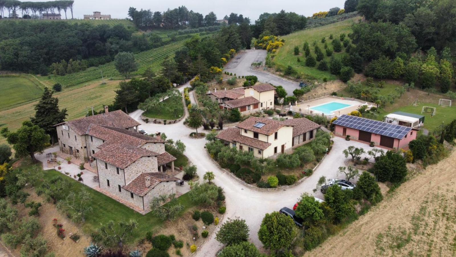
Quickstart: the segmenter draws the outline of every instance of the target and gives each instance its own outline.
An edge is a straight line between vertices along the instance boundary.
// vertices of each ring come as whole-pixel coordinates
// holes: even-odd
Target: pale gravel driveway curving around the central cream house
[[[175,141],[180,139],[187,146],[184,154],[187,155],[188,159],[193,164],[197,165],[197,173],[200,179],[202,179],[206,171],[214,172],[214,182],[218,186],[223,187],[226,195],[227,212],[220,223],[222,224],[225,222],[227,218],[241,217],[242,219],[245,219],[250,228],[250,241],[259,248],[262,247],[262,244],[258,239],[258,230],[261,220],[264,218],[264,214],[278,211],[284,206],[289,208],[293,207],[302,193],[310,193],[318,198],[323,198],[323,195],[319,191],[314,194],[312,189],[315,188],[316,182],[321,176],[326,176],[328,179],[343,178],[340,174],[337,174],[337,167],[343,166],[345,161],[342,150],[347,148],[348,145],[363,147],[366,150],[370,149],[368,145],[355,141],[347,143],[345,139],[335,137],[334,146],[330,154],[321,162],[321,165],[318,166],[314,174],[307,177],[301,184],[287,188],[286,190],[279,189],[276,191],[263,192],[249,187],[244,182],[238,181],[230,174],[227,174],[224,170],[220,169],[217,163],[207,155],[207,152],[204,149],[206,139],[191,139],[189,134],[194,130],[187,128],[182,122],[168,125],[153,123],[145,124],[140,119],[140,114],[141,111],[137,110],[130,113],[130,116],[141,123],[141,129],[150,133],[164,132],[168,138],[174,139]],[[222,247],[223,246],[215,240],[215,233],[213,233],[204,245],[198,246],[197,256],[215,256]]]

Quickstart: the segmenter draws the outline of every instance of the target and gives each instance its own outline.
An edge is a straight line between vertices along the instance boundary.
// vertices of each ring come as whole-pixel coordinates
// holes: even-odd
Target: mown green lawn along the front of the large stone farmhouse
[[[41,163],[32,165],[29,161],[26,161],[23,163],[23,165],[21,165],[21,168],[24,171],[41,169]],[[73,178],[62,174],[61,172],[55,170],[48,170],[44,172],[45,179],[50,179],[52,177],[63,177],[69,182],[69,187],[67,188],[65,194],[68,194],[70,191],[78,193],[82,190],[86,190],[90,194],[91,201],[88,204],[93,208],[93,212],[88,214],[86,221],[81,224],[84,232],[88,233],[89,235],[100,226],[100,223],[106,223],[109,220],[114,220],[114,222],[117,224],[122,220],[133,219],[138,222],[138,228],[135,230],[132,236],[133,241],[137,242],[143,239],[148,231],[156,230],[163,224],[163,221],[155,217],[153,214],[148,213],[143,215],[137,213],[122,203],[119,203],[114,199],[93,190],[90,187],[84,186],[82,183],[77,182]],[[188,194],[183,194],[180,196],[178,198],[178,201],[184,206],[181,214],[184,214],[188,209],[195,206],[192,201],[190,201]]]

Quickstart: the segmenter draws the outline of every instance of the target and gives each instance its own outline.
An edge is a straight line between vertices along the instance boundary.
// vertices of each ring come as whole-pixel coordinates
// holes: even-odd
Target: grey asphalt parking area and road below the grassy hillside
[[[252,69],[253,62],[265,62],[266,50],[245,50],[239,52],[236,57],[225,65],[224,71],[236,73],[236,75],[255,75],[258,80],[264,83],[270,83],[274,86],[283,86],[289,96],[293,95],[293,90],[299,88],[299,83],[286,80],[268,72]]]

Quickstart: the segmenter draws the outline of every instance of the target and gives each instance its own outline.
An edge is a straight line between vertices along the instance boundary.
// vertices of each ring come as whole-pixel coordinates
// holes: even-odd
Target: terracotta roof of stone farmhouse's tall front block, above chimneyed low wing
[[[160,154],[133,145],[112,144],[103,147],[101,150],[99,150],[92,156],[98,160],[107,162],[116,167],[124,169],[143,156],[158,155]]]

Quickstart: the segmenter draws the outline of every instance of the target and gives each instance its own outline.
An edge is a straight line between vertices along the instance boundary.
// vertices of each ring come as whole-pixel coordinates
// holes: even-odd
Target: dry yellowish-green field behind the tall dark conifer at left
[[[108,81],[104,85],[100,82],[89,86],[80,87],[71,91],[55,94],[59,99],[59,107],[67,108],[67,120],[81,118],[93,106],[95,110],[103,109],[103,105],[111,104],[114,100],[115,90],[119,87],[119,80]],[[35,115],[33,106],[37,102],[30,102],[8,110],[0,111],[0,128],[8,127],[15,131],[21,123]],[[0,144],[6,140],[1,137]]]

